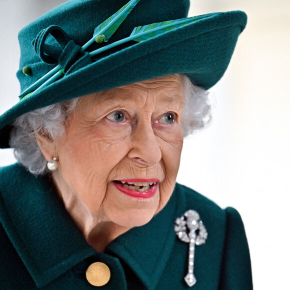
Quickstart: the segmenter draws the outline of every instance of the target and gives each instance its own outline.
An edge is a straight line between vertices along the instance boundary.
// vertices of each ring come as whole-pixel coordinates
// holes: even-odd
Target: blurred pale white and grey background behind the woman
[[[17,32],[64,0],[0,0],[0,114],[17,102]],[[184,142],[177,181],[244,221],[254,289],[288,288],[290,1],[191,0],[190,16],[243,10],[248,24],[210,89],[212,123]],[[0,166],[14,162],[0,150]]]

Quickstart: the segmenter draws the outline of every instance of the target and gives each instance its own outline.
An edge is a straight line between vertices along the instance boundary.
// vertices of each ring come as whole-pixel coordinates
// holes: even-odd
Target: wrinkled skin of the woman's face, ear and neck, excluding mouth
[[[46,160],[57,156],[59,196],[97,250],[147,223],[168,201],[182,149],[182,107],[181,77],[167,75],[83,96],[62,136],[37,135]],[[133,178],[158,179],[156,193],[135,198],[113,185]]]

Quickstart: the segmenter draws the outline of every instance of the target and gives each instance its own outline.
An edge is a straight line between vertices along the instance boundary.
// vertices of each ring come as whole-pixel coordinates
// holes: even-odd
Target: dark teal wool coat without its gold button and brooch
[[[174,233],[174,220],[196,210],[208,237],[195,246],[189,288],[188,243]],[[220,209],[195,191],[176,184],[172,197],[144,226],[112,241],[104,253],[90,247],[55,194],[52,182],[21,165],[0,169],[0,289],[252,289],[248,245],[233,208]],[[87,267],[105,263],[108,283],[90,285]]]

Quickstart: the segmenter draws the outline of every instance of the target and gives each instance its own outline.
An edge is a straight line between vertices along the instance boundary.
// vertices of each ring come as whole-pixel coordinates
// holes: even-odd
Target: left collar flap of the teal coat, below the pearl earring
[[[93,254],[47,178],[21,165],[0,170],[0,219],[38,287]]]

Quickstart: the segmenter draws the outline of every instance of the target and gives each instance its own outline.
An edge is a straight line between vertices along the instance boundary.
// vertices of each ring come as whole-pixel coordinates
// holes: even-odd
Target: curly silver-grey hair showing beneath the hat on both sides
[[[181,74],[183,80],[184,106],[181,116],[183,136],[203,128],[210,120],[208,92],[198,87]],[[13,122],[10,147],[15,158],[33,174],[48,172],[47,161],[36,141],[35,134],[41,132],[54,139],[64,133],[67,116],[75,109],[78,98],[55,103],[25,113]]]

